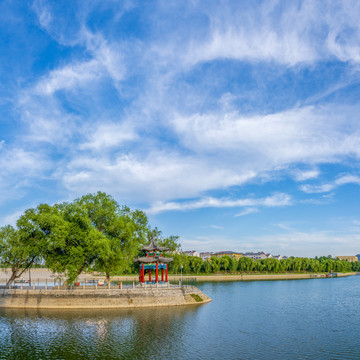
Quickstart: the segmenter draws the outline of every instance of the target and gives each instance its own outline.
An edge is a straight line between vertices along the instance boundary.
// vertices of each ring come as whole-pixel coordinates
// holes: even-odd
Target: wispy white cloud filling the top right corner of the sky
[[[204,10],[207,37],[180,54],[187,65],[217,59],[277,62],[288,66],[338,58],[360,61],[357,1],[265,2],[252,8]],[[336,13],[336,16],[334,16]]]

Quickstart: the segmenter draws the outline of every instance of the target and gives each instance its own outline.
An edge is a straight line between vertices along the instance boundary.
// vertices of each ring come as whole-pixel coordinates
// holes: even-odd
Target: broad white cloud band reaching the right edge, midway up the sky
[[[177,116],[173,126],[184,145],[197,152],[235,152],[239,162],[266,170],[266,164],[273,168],[296,162],[334,162],[354,154],[360,157],[357,112],[357,106],[307,106],[251,117],[195,114]]]

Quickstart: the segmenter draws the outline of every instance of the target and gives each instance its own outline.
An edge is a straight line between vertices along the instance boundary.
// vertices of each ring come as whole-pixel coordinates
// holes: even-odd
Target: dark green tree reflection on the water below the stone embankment
[[[197,307],[0,310],[0,359],[154,358],[181,348]]]

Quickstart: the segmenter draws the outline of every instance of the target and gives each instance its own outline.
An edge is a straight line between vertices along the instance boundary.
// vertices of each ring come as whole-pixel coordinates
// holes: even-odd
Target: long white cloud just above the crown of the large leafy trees
[[[207,159],[176,153],[151,152],[145,157],[114,154],[74,157],[57,177],[73,192],[110,192],[124,200],[154,201],[189,198],[199,193],[243,184],[255,176],[236,171]]]

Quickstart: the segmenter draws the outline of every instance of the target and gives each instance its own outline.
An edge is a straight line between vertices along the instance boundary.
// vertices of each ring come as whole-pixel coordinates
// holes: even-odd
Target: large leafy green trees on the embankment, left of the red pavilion
[[[134,258],[151,238],[175,251],[178,237],[164,238],[146,214],[120,206],[103,192],[55,205],[28,209],[0,228],[0,264],[11,269],[7,285],[41,264],[72,283],[83,272],[110,276],[133,271]]]

